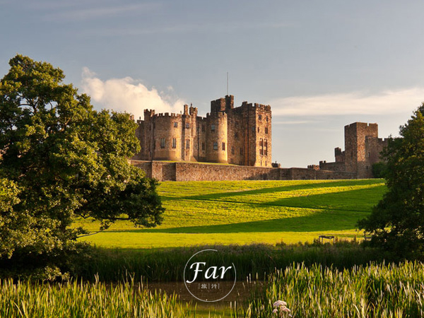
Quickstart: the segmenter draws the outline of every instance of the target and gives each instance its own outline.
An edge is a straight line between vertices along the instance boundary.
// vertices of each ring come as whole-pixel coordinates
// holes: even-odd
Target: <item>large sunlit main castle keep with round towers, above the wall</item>
[[[211,101],[211,112],[197,116],[184,105],[182,114],[144,111],[136,136],[137,160],[175,160],[271,167],[271,107],[243,102],[234,96]]]

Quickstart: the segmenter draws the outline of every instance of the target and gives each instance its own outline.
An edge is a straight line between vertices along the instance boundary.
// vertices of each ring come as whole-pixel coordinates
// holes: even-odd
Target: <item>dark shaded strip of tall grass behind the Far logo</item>
[[[217,249],[219,253],[205,254],[207,264],[234,263],[237,280],[247,276],[265,279],[275,269],[292,264],[321,264],[337,269],[355,265],[367,265],[371,261],[382,262],[390,256],[383,252],[364,248],[358,242],[336,244],[298,245],[214,245],[174,249],[95,249],[90,259],[82,259],[74,273],[78,277],[100,281],[122,281],[133,276],[148,281],[182,281],[184,266],[193,254],[202,249]]]

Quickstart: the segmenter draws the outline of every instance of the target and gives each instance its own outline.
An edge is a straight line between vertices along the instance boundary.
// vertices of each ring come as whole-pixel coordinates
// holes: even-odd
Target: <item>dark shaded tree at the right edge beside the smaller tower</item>
[[[406,256],[424,247],[424,103],[399,135],[382,153],[388,191],[358,225],[372,233],[373,244]]]

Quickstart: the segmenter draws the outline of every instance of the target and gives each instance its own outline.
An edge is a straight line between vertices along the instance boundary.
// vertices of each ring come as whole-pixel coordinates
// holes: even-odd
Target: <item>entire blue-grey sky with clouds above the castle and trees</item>
[[[424,1],[0,0],[0,77],[48,61],[95,109],[206,116],[227,93],[271,105],[283,167],[334,161],[343,127],[397,136],[424,101]]]

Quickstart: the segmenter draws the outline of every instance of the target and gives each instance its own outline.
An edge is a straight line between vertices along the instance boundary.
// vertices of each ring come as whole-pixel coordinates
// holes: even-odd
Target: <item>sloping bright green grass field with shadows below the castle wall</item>
[[[355,223],[386,191],[384,180],[162,182],[163,224],[117,222],[83,237],[99,247],[311,242],[319,235],[360,237]],[[78,220],[89,230],[98,223]]]

